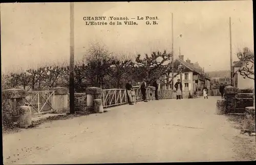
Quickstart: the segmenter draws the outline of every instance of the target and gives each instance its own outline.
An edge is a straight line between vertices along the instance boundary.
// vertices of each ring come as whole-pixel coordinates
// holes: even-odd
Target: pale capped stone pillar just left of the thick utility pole
[[[52,107],[56,113],[68,113],[68,88],[56,87],[52,88],[54,95],[51,97]]]

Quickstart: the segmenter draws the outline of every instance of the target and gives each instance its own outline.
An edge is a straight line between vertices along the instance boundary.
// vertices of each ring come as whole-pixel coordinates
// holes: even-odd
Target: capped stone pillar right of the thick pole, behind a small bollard
[[[101,99],[103,90],[98,87],[89,87],[86,89],[87,94],[87,111],[94,111],[94,101],[95,99]]]

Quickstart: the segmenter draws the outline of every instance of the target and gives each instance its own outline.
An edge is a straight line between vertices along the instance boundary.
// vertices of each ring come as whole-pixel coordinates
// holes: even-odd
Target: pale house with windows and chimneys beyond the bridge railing
[[[174,83],[177,82],[178,79],[181,79],[182,82],[182,96],[183,98],[189,98],[189,96],[197,96],[202,94],[202,88],[205,85],[208,89],[210,89],[210,78],[205,75],[203,72],[203,68],[201,68],[196,62],[195,64],[191,63],[189,59],[184,61],[184,56],[179,56],[178,59],[174,61],[174,72],[177,71],[178,66],[182,65],[184,67],[184,73],[181,73],[174,77]],[[172,73],[170,73],[170,77]],[[171,78],[169,78],[170,80]],[[167,87],[170,88],[170,87]]]

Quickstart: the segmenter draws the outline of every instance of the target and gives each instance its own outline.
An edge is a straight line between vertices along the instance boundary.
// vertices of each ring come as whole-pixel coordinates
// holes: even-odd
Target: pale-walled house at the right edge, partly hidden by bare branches
[[[237,87],[238,89],[247,89],[252,88],[254,89],[254,79],[250,78],[244,78],[240,73],[239,69],[243,67],[243,63],[241,61],[235,61],[233,62],[233,85],[234,87]],[[254,75],[252,75],[254,78]]]

